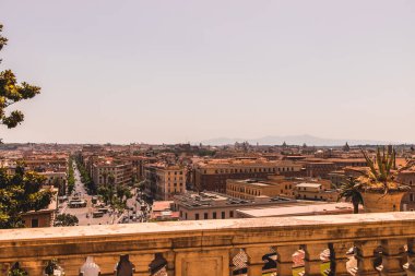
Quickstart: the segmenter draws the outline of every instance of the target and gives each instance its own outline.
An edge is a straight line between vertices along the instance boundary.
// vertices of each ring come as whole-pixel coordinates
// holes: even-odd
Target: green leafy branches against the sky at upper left
[[[1,36],[3,25],[0,24],[0,50],[7,45],[8,39]],[[0,59],[1,63],[1,59]],[[0,124],[9,129],[17,127],[23,120],[24,115],[20,110],[7,112],[5,109],[11,105],[23,99],[29,99],[40,93],[40,87],[28,83],[19,83],[11,70],[0,72]]]

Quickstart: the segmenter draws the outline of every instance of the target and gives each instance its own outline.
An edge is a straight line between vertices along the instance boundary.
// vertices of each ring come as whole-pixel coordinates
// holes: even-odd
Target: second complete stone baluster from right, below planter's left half
[[[374,266],[375,250],[379,247],[378,241],[357,241],[355,242],[357,259],[358,276],[379,275],[379,272]]]

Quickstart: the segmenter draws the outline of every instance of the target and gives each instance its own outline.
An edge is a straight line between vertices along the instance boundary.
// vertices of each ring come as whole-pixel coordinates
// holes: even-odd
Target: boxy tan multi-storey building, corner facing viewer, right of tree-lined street
[[[186,192],[186,168],[177,165],[149,164],[144,166],[145,194],[156,201],[168,201]]]

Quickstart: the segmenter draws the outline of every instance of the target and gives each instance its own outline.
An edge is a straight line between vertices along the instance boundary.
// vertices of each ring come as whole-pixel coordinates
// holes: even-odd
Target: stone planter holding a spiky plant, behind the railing
[[[400,212],[402,197],[406,191],[389,191],[384,194],[382,191],[361,191],[364,208],[366,213],[384,213]]]

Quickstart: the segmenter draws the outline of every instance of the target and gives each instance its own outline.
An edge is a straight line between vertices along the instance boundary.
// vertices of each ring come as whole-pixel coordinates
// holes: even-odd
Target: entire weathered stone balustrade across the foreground
[[[258,276],[265,266],[290,276],[304,252],[305,275],[321,275],[325,251],[330,275],[415,275],[414,239],[415,213],[16,229],[0,230],[0,266],[29,276],[51,260],[67,276]]]

